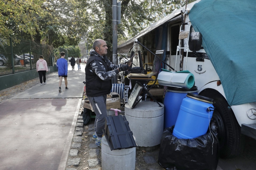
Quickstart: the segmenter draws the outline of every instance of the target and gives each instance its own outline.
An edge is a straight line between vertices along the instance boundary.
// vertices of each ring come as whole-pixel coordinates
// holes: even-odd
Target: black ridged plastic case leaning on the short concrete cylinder
[[[130,131],[129,122],[123,115],[107,116],[103,133],[111,151],[137,146],[133,138],[133,132]]]

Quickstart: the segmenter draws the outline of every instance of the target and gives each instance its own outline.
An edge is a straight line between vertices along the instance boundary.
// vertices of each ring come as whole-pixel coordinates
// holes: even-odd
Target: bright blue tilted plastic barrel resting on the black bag
[[[213,114],[213,99],[188,93],[182,100],[173,135],[192,139],[204,135]]]

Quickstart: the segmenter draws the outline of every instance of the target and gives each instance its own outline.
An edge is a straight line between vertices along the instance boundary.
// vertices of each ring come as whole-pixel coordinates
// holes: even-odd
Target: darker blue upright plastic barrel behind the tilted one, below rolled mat
[[[180,111],[181,102],[187,93],[198,95],[197,86],[191,89],[183,89],[178,87],[167,87],[164,99],[164,129],[175,125]]]

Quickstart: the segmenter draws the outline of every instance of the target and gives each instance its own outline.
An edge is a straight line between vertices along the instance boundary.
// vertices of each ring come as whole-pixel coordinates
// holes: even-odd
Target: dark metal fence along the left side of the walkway
[[[0,75],[36,69],[40,55],[43,55],[48,66],[54,66],[57,56],[51,46],[0,34]]]

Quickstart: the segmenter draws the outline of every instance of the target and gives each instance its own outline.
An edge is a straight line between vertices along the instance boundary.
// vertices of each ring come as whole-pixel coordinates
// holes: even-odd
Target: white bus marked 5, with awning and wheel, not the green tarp
[[[156,50],[166,50],[165,62],[172,68],[176,65],[175,69],[177,71],[185,70],[185,61],[187,60],[186,70],[189,70],[194,74],[195,85],[199,90],[198,94],[213,98],[215,101],[215,109],[213,118],[210,121],[210,128],[218,136],[220,157],[231,158],[240,154],[242,151],[243,137],[241,134],[256,139],[256,103],[252,102],[229,106],[223,90],[223,84],[220,81],[219,75],[213,67],[212,62],[209,60],[208,54],[203,49],[203,46],[196,52],[188,50],[187,59],[187,52],[185,50],[183,55],[181,51],[178,51],[177,62],[175,63],[180,27],[185,18],[184,13],[188,12],[193,5],[199,1],[201,0],[188,4],[186,10],[185,7],[183,7],[172,12],[170,15],[144,29],[132,39],[119,45],[118,53],[127,53],[133,46],[134,40],[137,39],[141,44],[154,53]],[[184,13],[181,12],[182,10]],[[186,15],[185,22],[188,23],[188,25],[185,25],[185,30],[190,29],[192,32],[193,28],[190,22],[189,13]],[[251,21],[251,23],[255,25],[253,21]],[[232,27],[230,27],[230,30],[232,30]],[[222,37],[219,37],[219,40],[221,39]],[[187,46],[188,42],[186,38],[182,41],[182,44],[184,47]],[[140,49],[143,51],[141,52],[143,54],[143,62],[151,63],[153,56],[149,52],[146,52],[142,46],[140,46]],[[251,60],[255,61],[256,57]],[[174,71],[168,66],[165,66],[165,69]],[[255,78],[256,77],[252,77],[252,79]],[[253,92],[256,91],[256,89],[251,90]]]

